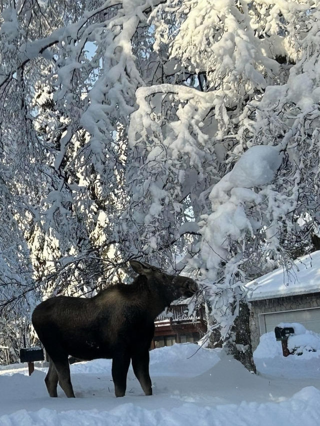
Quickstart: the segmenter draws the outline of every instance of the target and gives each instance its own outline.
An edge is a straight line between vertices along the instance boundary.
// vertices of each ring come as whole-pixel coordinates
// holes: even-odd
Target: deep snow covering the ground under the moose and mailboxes
[[[222,350],[194,344],[153,350],[151,397],[130,369],[126,396],[115,398],[109,360],[71,366],[75,399],[61,390],[49,398],[44,368],[30,377],[22,365],[0,368],[0,426],[318,426],[320,351],[308,352],[306,342],[312,336],[316,346],[319,336],[301,330],[300,356],[283,358],[274,334],[262,336],[254,353],[258,375]]]

